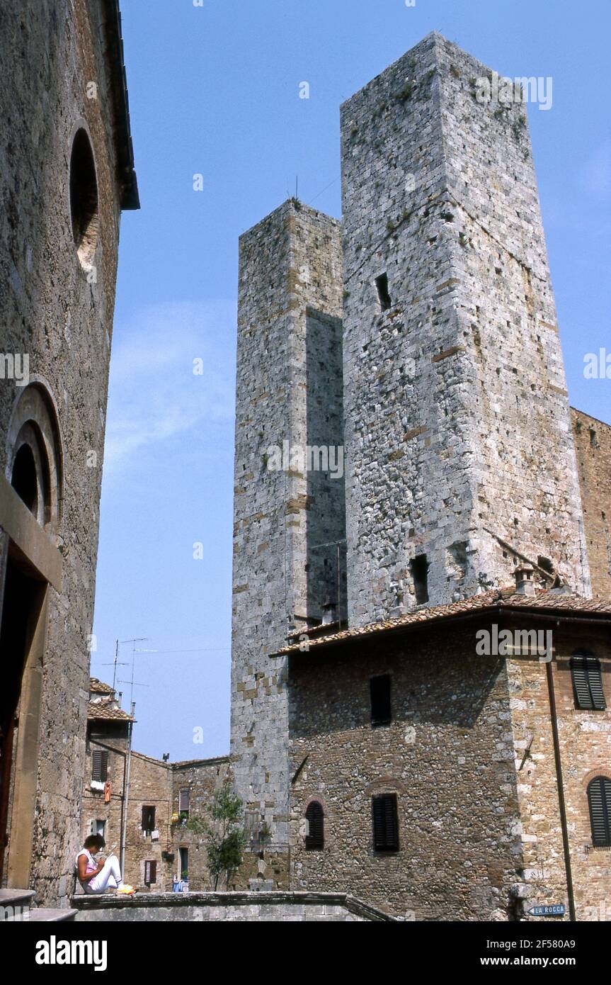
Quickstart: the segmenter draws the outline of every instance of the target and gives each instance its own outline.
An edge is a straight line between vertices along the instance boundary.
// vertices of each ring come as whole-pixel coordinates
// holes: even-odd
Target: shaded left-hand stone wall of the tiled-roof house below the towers
[[[290,658],[295,889],[351,892],[407,919],[507,919],[520,866],[511,693],[503,662],[474,648],[474,631],[453,626]],[[392,676],[393,722],[372,728],[379,674]],[[379,793],[397,794],[397,853],[373,849]],[[312,799],[323,851],[304,845]]]

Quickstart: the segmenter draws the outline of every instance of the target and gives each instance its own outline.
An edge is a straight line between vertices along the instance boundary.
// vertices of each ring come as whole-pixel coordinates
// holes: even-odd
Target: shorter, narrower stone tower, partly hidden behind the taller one
[[[236,789],[279,853],[288,717],[271,654],[333,604],[337,545],[345,613],[342,472],[308,462],[308,446],[343,447],[340,317],[336,220],[290,200],[241,237],[231,753]]]

